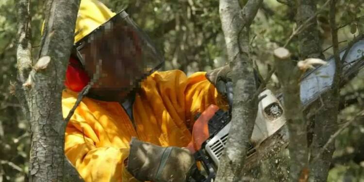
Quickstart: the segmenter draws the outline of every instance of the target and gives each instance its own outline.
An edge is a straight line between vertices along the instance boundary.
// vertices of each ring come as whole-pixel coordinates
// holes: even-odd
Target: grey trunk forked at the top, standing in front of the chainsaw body
[[[220,0],[219,12],[230,62],[234,103],[232,126],[216,175],[216,182],[242,181],[244,160],[257,113],[253,63],[249,59],[249,27],[263,0]]]

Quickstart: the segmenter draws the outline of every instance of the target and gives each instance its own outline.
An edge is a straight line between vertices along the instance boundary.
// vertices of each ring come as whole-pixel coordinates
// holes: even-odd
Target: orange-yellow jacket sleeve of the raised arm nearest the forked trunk
[[[148,128],[161,128],[162,135],[163,132],[166,133],[167,138],[173,138],[173,135],[176,135],[175,138],[178,138],[178,135],[187,136],[183,142],[172,142],[174,145],[188,143],[191,137],[189,130],[192,128],[195,116],[211,104],[223,109],[226,105],[215,86],[206,79],[205,74],[206,72],[196,72],[187,77],[181,70],[170,70],[157,71],[149,76],[142,83],[142,89],[136,97],[133,110],[136,112],[134,118],[137,124],[140,122],[143,126],[151,126],[145,127],[144,131],[138,133],[143,133]],[[151,115],[146,115],[144,119],[138,118],[138,116],[144,116],[144,113],[154,113],[156,121],[148,121]],[[183,134],[178,134],[180,130]],[[155,130],[150,132],[153,133]],[[156,135],[159,134],[156,133]],[[148,141],[147,138],[142,139]],[[149,142],[158,144],[155,141]]]

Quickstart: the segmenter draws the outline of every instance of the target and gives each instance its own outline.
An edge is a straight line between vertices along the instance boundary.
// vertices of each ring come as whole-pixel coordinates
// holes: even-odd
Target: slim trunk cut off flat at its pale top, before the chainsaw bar
[[[284,48],[274,50],[275,67],[283,90],[283,107],[289,131],[290,181],[308,178],[307,124],[300,99],[301,70]]]

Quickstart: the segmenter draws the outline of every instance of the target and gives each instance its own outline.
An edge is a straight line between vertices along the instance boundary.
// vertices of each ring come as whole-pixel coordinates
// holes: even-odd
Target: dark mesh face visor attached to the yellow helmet
[[[130,91],[164,63],[149,37],[121,11],[76,44],[77,57],[92,77],[93,88]]]

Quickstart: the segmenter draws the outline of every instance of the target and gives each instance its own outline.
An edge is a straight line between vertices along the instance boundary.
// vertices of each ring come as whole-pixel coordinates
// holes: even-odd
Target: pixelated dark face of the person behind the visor
[[[90,94],[106,101],[121,101],[137,88],[145,74],[141,47],[136,34],[122,24],[104,26],[80,50],[85,70],[93,78]]]

